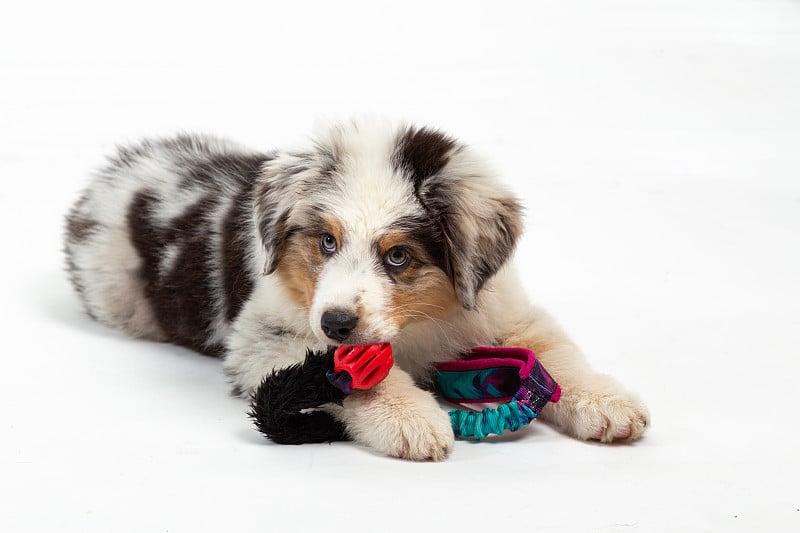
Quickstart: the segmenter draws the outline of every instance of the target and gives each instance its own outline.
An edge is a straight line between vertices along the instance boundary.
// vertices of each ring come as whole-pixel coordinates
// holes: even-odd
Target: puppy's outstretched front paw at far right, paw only
[[[542,414],[573,437],[601,442],[636,440],[650,425],[641,400],[602,375],[564,387]]]

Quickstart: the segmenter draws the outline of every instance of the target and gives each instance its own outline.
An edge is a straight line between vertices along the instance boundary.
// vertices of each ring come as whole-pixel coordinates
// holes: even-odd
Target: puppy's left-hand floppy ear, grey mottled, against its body
[[[292,214],[307,196],[330,180],[335,168],[333,153],[323,145],[314,151],[279,153],[264,163],[255,185],[256,229],[266,253],[264,274],[278,267],[283,245],[292,229]]]

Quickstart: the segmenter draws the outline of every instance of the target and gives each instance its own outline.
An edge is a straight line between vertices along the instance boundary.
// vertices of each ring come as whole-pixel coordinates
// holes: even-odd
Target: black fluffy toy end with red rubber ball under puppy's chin
[[[316,408],[326,403],[341,405],[354,389],[374,387],[393,364],[388,343],[308,350],[302,363],[274,370],[264,378],[250,400],[250,418],[278,444],[348,440],[342,423]]]

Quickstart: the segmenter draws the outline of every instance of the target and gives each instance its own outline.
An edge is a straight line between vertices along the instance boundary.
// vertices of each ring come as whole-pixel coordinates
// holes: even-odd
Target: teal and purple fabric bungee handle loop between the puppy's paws
[[[561,387],[526,348],[474,348],[460,360],[436,365],[436,381],[452,403],[500,403],[493,409],[448,413],[456,437],[475,440],[517,431],[539,416],[547,402],[561,398]]]

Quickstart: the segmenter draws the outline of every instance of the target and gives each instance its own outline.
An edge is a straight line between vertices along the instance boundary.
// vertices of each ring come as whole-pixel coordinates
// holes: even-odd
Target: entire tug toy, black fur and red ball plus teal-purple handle
[[[344,426],[318,408],[341,405],[354,390],[367,390],[389,373],[388,343],[308,350],[305,361],[264,378],[250,402],[256,427],[279,444],[348,440]],[[500,403],[482,411],[449,412],[457,437],[480,440],[530,424],[561,388],[525,348],[478,347],[457,361],[436,365],[442,396],[456,404]]]

